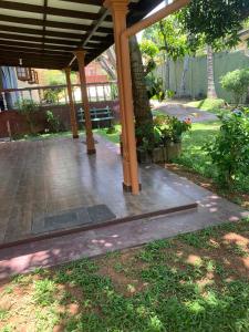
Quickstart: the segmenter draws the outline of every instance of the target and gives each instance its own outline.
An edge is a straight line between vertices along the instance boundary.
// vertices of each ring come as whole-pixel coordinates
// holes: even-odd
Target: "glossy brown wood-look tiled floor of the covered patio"
[[[116,146],[97,142],[96,156],[83,138],[0,144],[0,243],[195,204],[158,166],[141,168],[139,196],[125,194]]]

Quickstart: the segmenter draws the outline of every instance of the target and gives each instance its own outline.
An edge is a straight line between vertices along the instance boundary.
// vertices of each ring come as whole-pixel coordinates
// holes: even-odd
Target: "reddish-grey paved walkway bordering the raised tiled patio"
[[[108,144],[108,146],[115,152],[114,145]],[[225,221],[236,222],[241,217],[249,216],[249,212],[239,206],[214,195],[186,178],[165,169],[158,169],[156,165],[147,167],[154,172],[159,172],[159,174],[163,172],[162,184],[163,181],[173,184],[174,190],[197,201],[198,209],[105,226],[94,230],[79,231],[0,249],[0,279],[14,273],[28,272],[38,267],[51,267],[83,257],[94,257],[107,251],[139,246]],[[153,184],[148,185],[153,186]],[[107,189],[105,188],[105,190]],[[160,185],[157,184],[156,190],[160,190]]]

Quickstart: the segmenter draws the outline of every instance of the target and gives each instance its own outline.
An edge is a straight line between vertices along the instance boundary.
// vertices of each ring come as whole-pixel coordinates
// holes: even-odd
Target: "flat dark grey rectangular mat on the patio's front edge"
[[[43,220],[33,220],[32,232],[48,232],[71,229],[76,226],[96,225],[115,219],[116,216],[106,205],[95,205],[45,216]]]

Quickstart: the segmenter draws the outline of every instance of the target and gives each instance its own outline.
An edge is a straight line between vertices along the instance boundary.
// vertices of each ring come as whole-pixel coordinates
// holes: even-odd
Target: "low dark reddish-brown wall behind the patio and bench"
[[[120,106],[118,101],[105,101],[105,102],[93,102],[90,103],[90,107],[93,108],[102,108],[102,107],[111,107],[114,112],[115,120],[120,118]],[[80,108],[81,105],[76,104],[76,110]],[[48,105],[42,106],[40,111],[33,114],[34,120],[34,132],[43,133],[45,128],[48,128],[46,115],[45,112],[51,111],[55,116],[59,116],[60,122],[62,124],[62,128],[64,131],[70,131],[70,110],[69,105]],[[24,134],[30,134],[29,125],[27,124],[25,117],[20,114],[18,111],[3,111],[0,112],[0,138],[8,137],[8,122],[10,124],[11,135],[21,136]]]

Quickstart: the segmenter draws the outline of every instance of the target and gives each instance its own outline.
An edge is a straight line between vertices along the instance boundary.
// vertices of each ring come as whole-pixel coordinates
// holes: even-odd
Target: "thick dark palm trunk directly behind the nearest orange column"
[[[153,115],[147,96],[144,65],[136,37],[129,39],[133,102],[136,127],[153,122]]]

